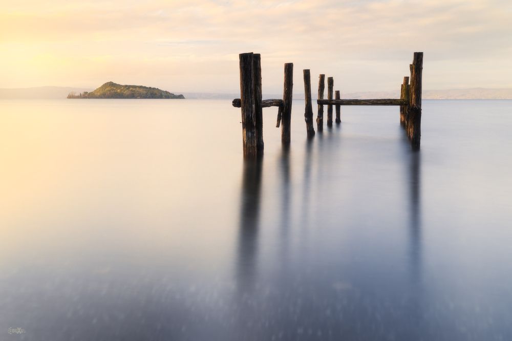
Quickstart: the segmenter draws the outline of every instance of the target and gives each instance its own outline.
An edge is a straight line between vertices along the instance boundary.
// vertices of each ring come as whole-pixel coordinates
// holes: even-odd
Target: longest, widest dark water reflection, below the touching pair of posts
[[[254,283],[257,265],[258,228],[263,158],[244,160],[238,242],[239,287]]]

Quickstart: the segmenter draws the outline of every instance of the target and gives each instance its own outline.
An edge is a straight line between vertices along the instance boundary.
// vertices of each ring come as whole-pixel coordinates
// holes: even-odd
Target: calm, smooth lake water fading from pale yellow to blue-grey
[[[512,101],[303,113],[0,101],[0,340],[512,339]]]

